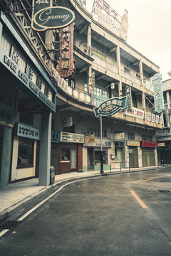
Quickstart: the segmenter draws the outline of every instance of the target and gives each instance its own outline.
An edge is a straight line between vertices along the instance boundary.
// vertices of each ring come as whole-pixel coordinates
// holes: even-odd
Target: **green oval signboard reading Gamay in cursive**
[[[50,6],[50,0],[33,0],[31,27],[35,31],[64,28],[70,25],[75,14],[63,6]]]

